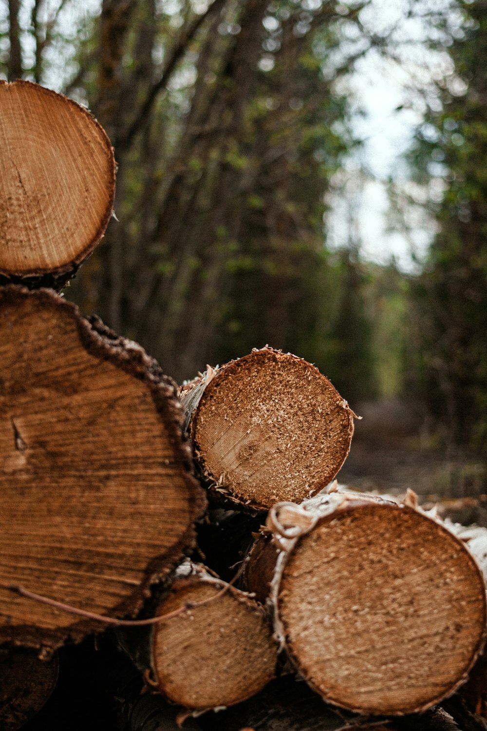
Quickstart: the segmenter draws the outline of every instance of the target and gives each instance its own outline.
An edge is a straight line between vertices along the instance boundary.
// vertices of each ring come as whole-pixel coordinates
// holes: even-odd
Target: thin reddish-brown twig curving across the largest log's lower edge
[[[191,609],[197,609],[198,607],[203,607],[206,604],[215,602],[216,599],[220,599],[223,594],[226,594],[231,586],[234,586],[234,583],[242,574],[244,567],[245,561],[242,562],[242,566],[239,568],[239,570],[229,583],[218,580],[219,584],[224,585],[223,588],[218,591],[218,594],[210,596],[207,599],[202,599],[199,602],[186,602],[182,607],[180,607],[179,609],[175,609],[173,612],[160,614],[156,617],[150,617],[148,619],[117,619],[115,617],[106,617],[102,614],[96,614],[94,612],[88,612],[84,609],[78,609],[77,607],[73,607],[72,605],[64,604],[64,602],[56,602],[55,599],[49,599],[47,596],[42,596],[42,594],[36,594],[34,591],[28,591],[28,589],[23,588],[23,586],[20,586],[19,584],[7,584],[4,581],[0,581],[0,588],[11,591],[12,594],[19,594],[19,596],[23,596],[25,599],[33,599],[34,602],[39,602],[40,604],[54,607],[55,609],[61,610],[61,612],[75,614],[78,617],[93,619],[94,621],[103,622],[104,624],[112,624],[117,627],[141,627],[150,624],[158,624],[159,622],[165,622],[168,619],[179,616],[183,612],[187,612]]]

